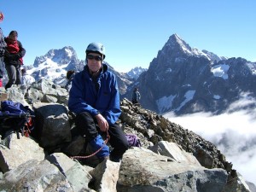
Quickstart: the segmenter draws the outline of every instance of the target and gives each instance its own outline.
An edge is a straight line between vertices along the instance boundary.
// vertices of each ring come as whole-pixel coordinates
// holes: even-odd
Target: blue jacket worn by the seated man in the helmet
[[[76,73],[69,92],[68,108],[73,113],[88,112],[93,117],[101,113],[109,125],[113,125],[121,114],[119,90],[115,75],[102,64],[102,72],[96,79],[99,90],[92,81],[88,67]]]

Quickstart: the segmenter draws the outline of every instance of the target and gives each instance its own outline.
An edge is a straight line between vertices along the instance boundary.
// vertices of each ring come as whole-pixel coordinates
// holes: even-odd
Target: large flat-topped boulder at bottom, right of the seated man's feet
[[[227,177],[223,169],[207,169],[189,162],[179,163],[150,150],[131,148],[123,157],[117,189],[119,192],[127,189],[221,192]]]

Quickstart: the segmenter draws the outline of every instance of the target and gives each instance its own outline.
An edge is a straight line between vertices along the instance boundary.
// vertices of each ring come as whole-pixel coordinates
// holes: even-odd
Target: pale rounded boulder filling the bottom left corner
[[[0,190],[74,192],[67,178],[48,160],[28,160],[4,173]]]

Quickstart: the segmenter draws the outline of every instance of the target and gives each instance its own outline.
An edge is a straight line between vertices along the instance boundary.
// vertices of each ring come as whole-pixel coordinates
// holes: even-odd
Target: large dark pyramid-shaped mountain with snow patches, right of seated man
[[[143,108],[156,113],[222,113],[239,99],[256,97],[255,70],[255,62],[192,49],[173,34],[123,97],[130,98],[137,86]],[[239,108],[255,108],[255,103]]]

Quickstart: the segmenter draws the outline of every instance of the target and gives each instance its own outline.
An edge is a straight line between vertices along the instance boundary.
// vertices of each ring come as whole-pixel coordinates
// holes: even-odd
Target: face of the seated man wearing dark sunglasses
[[[102,55],[89,53],[86,57],[87,65],[91,72],[96,73],[102,67]]]

